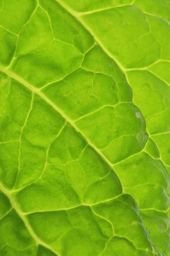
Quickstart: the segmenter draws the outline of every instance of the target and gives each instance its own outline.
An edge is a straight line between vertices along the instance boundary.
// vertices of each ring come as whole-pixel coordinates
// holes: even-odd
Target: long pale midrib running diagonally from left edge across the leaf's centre
[[[99,154],[100,157],[102,157],[106,163],[108,163],[108,165],[113,168],[113,164],[104,156],[104,154],[102,154],[98,148],[96,148],[96,146],[91,143],[90,140],[88,140],[85,135],[82,133],[82,131],[79,130],[79,128],[77,127],[77,125],[74,123],[74,121],[72,121],[70,118],[68,118],[68,116],[65,115],[65,113],[57,107],[57,105],[55,105],[50,99],[48,99],[47,96],[45,96],[40,89],[34,87],[33,85],[29,84],[27,81],[25,81],[24,79],[22,79],[20,76],[17,76],[15,73],[11,72],[10,70],[8,70],[5,67],[0,67],[0,71],[5,73],[7,76],[10,76],[11,78],[15,79],[16,81],[20,82],[21,84],[23,84],[25,87],[27,87],[29,90],[31,90],[34,93],[37,93],[42,99],[45,100],[45,102],[47,102],[49,105],[51,105],[58,113],[60,113],[60,115],[68,122],[70,123],[74,129],[79,132],[79,134],[82,135],[82,137],[84,138],[84,140],[87,142],[88,145],[90,145],[92,148],[94,148],[94,150],[97,152],[97,154]]]

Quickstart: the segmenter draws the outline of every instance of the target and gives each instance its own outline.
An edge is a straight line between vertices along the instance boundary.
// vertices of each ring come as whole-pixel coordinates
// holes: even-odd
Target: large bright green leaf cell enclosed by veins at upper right
[[[161,45],[143,12],[134,6],[82,15],[81,20],[125,68],[142,68],[160,58]]]

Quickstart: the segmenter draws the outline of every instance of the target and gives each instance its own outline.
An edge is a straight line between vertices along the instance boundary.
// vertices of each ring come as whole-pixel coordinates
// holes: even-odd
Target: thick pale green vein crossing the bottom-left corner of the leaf
[[[17,214],[20,216],[20,218],[22,219],[22,221],[24,222],[28,232],[30,233],[30,235],[32,236],[32,238],[35,240],[36,244],[41,244],[42,246],[46,247],[48,250],[51,250],[53,253],[55,253],[57,256],[59,256],[59,254],[53,250],[53,248],[51,246],[49,246],[48,244],[45,244],[42,240],[39,239],[39,237],[34,233],[34,231],[32,230],[31,226],[28,223],[28,220],[26,218],[26,215],[20,211],[20,208],[17,206],[16,202],[14,201],[14,198],[12,197],[11,193],[8,192],[8,190],[0,184],[0,190],[8,197],[9,201],[11,202],[12,207],[15,209],[15,211],[17,212]]]

